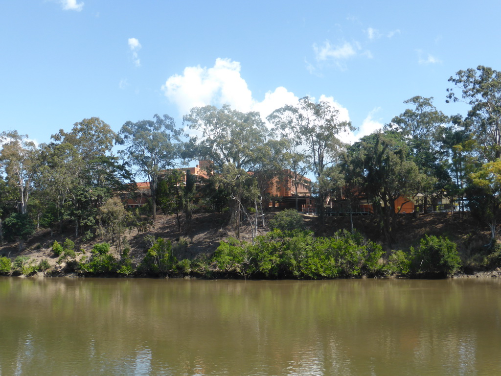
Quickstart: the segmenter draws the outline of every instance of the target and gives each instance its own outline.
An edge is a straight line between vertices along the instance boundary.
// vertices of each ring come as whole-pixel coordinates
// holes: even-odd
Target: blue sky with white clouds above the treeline
[[[446,114],[448,78],[501,69],[497,1],[0,2],[0,131],[47,142],[98,116],[124,122],[229,103],[263,116],[331,100],[370,133],[415,95]]]

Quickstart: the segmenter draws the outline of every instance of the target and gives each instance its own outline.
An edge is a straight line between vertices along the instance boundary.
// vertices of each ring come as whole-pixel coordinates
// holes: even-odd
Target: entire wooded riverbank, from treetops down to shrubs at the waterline
[[[470,106],[464,115],[414,96],[353,143],[346,141],[356,128],[335,104],[308,96],[269,114],[227,104],[193,107],[182,124],[155,114],[118,132],[91,117],[43,144],[0,132],[0,273],[326,279],[496,271],[501,72],[478,66],[448,82],[446,102]]]

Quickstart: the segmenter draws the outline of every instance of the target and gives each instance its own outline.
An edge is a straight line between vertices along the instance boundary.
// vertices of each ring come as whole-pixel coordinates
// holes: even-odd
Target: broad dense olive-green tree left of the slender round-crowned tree
[[[117,134],[98,117],[83,119],[70,132],[52,135],[43,150],[40,190],[55,198],[62,229],[64,220],[75,224],[75,236],[98,227],[98,210],[115,192],[126,190],[132,179],[111,152]]]

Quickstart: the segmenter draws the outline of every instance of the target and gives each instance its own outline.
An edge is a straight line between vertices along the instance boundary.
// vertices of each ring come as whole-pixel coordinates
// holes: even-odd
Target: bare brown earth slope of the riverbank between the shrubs
[[[266,222],[273,216],[274,213],[268,214]],[[319,224],[317,217],[303,216],[303,218],[306,227],[316,236],[332,236],[336,231],[349,230],[351,227],[348,217],[328,217],[323,226]],[[382,246],[383,259],[387,259],[395,250],[406,252],[410,247],[416,247],[419,240],[425,235],[446,236],[456,244],[462,260],[462,274],[458,276],[501,276],[496,268],[485,270],[484,258],[487,254],[484,244],[488,242],[488,232],[475,224],[468,215],[459,216],[456,213],[451,217],[448,213],[433,213],[417,218],[412,215],[402,215],[399,217],[398,228],[394,231],[395,241],[391,247],[384,243],[374,217],[354,217],[353,226],[362,236]],[[269,233],[269,230],[267,226],[261,227],[258,229],[258,235],[265,235]],[[242,226],[240,239],[250,241],[250,234],[250,227]],[[137,273],[137,267],[147,256],[147,251],[153,245],[154,240],[162,238],[173,244],[172,256],[177,261],[188,260],[169,273],[171,276],[197,278],[226,276],[232,278],[235,276],[232,276],[231,273],[220,272],[215,261],[211,261],[220,242],[226,241],[232,236],[234,236],[234,229],[223,214],[196,213],[193,216],[192,232],[189,236],[177,231],[177,222],[174,216],[159,215],[149,231],[138,232],[134,230],[126,235],[130,249],[127,257],[130,259],[132,270]],[[75,241],[75,259],[61,260],[52,251],[54,241],[62,244],[65,239]],[[85,276],[89,273],[75,273],[77,270],[75,265],[88,260],[92,255],[92,247],[104,240],[93,239],[83,242],[81,239],[74,239],[69,233],[55,233],[51,236],[50,231],[42,230],[26,242],[27,247],[23,252],[18,251],[16,243],[4,244],[0,247],[0,256],[8,257],[12,261],[21,256],[33,265],[38,265],[45,260],[48,268],[44,271],[44,275]],[[113,246],[110,254],[117,260],[122,257]],[[20,270],[9,273],[9,275],[20,274],[22,274]]]

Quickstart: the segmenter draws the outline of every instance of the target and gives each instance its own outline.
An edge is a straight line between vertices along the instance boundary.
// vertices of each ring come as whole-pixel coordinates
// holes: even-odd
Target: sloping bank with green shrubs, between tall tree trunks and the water
[[[395,232],[402,242],[393,249],[384,246],[384,236],[371,217],[355,218],[351,233],[346,217],[326,218],[321,227],[318,217],[295,210],[271,213],[254,244],[249,226],[242,226],[240,240],[231,236],[228,216],[195,213],[190,238],[176,231],[174,217],[160,215],[150,232],[130,231],[121,252],[106,242],[76,245],[66,234],[51,237],[50,232],[41,232],[23,252],[15,244],[0,248],[0,255],[10,254],[0,257],[0,275],[272,280],[501,277],[499,248],[494,245],[493,251],[479,253],[477,248],[488,242],[489,234],[479,231],[467,214],[402,216]]]

